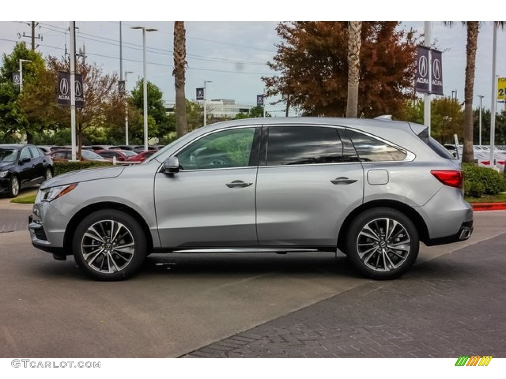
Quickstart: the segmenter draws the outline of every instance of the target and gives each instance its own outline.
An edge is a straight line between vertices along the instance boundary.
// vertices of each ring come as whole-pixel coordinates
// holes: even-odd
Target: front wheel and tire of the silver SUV
[[[135,274],[146,258],[144,230],[132,216],[104,209],[85,217],[72,241],[81,270],[97,280],[123,280]]]

